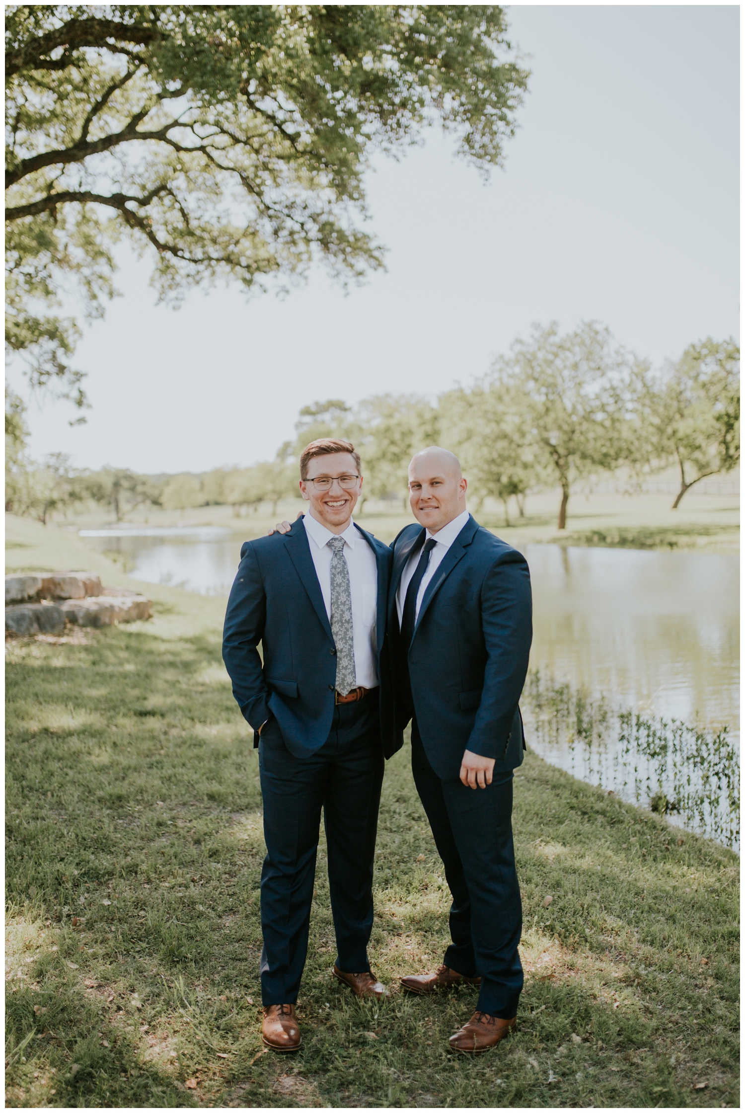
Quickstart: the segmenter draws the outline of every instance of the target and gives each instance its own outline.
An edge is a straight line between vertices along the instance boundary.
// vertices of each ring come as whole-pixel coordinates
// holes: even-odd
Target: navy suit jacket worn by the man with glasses
[[[380,742],[400,749],[386,634],[393,553],[357,526],[378,568],[377,651]],[[259,656],[261,642],[264,662]],[[225,615],[222,660],[244,718],[257,731],[274,715],[288,750],[307,757],[328,738],[334,716],[334,636],[302,520],[289,533],[246,541]],[[375,697],[368,697],[375,698]],[[258,735],[254,736],[258,746]]]

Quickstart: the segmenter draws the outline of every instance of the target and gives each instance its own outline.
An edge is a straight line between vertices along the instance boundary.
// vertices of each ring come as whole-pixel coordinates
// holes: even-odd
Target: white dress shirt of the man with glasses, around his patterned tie
[[[326,526],[306,514],[302,519],[310,542],[310,555],[316,565],[326,613],[331,621],[331,558],[328,546],[331,538],[344,538],[341,550],[349,569],[351,588],[351,624],[355,646],[355,677],[361,688],[377,688],[378,677],[377,622],[378,622],[378,564],[375,553],[355,528],[354,521],[344,533],[331,533]]]

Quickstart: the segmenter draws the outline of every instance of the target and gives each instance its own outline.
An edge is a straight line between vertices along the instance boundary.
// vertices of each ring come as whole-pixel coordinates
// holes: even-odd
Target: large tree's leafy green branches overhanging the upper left
[[[119,237],[167,298],[314,259],[358,279],[371,150],[439,120],[498,166],[528,76],[491,6],[17,4],[6,31],[9,343],[79,403],[77,325],[47,311],[74,277],[100,312]]]

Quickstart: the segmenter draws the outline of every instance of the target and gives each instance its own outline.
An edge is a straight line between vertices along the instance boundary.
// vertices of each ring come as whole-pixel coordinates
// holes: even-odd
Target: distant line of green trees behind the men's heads
[[[97,503],[117,521],[145,503],[171,510],[231,505],[257,511],[298,494],[301,449],[320,436],[354,442],[362,456],[365,499],[406,500],[407,465],[428,444],[451,449],[469,481],[471,506],[510,500],[525,512],[528,493],[558,486],[564,530],[573,486],[625,467],[632,487],[675,463],[677,508],[699,480],[739,461],[739,349],[732,339],[689,345],[654,370],[589,322],[560,334],[534,327],[488,374],[429,401],[381,394],[356,406],[316,402],[299,414],[295,439],[272,461],[218,467],[202,475],[148,476],[105,467],[74,471],[62,454],[41,464],[26,454],[23,407],[6,402],[7,508],[46,522],[52,511]],[[364,501],[360,505],[360,512]]]

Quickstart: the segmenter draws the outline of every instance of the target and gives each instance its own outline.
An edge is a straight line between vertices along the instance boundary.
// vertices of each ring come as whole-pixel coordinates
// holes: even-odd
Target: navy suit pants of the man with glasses
[[[384,757],[377,691],[339,703],[319,750],[297,758],[275,718],[261,731],[259,771],[267,856],[261,869],[261,999],[295,1004],[308,951],[316,853],[324,811],[328,880],[340,971],[369,971],[372,859]]]

